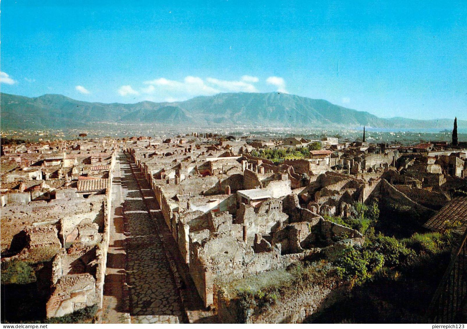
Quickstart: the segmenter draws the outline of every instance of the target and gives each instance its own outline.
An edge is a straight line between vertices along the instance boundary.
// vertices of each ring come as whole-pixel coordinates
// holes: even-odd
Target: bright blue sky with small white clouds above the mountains
[[[2,92],[135,103],[283,91],[467,119],[465,0],[63,2],[1,1]]]

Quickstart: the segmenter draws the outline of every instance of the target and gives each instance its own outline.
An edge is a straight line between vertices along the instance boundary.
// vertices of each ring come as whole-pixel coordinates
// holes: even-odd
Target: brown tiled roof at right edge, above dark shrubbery
[[[462,226],[467,225],[467,196],[451,200],[439,212],[431,217],[423,226],[433,231],[443,232],[447,221],[451,223],[460,221]]]

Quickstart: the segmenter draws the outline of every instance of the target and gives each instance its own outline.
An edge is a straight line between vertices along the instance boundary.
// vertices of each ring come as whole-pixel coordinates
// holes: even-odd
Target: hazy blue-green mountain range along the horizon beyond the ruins
[[[1,93],[1,129],[84,128],[96,122],[149,123],[154,125],[209,127],[216,125],[261,127],[382,129],[452,129],[453,119],[382,119],[323,99],[278,92],[224,93],[184,102],[136,104],[88,103],[47,94],[40,97]],[[467,121],[458,121],[467,128]]]

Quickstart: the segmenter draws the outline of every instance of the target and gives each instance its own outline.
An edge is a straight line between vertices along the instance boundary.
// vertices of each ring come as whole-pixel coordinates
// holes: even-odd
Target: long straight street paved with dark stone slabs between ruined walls
[[[134,163],[133,166],[134,173],[129,158],[120,153],[131,322],[180,323],[183,321],[181,299],[163,252],[162,240],[147,211],[136,178],[145,194],[148,190],[144,186],[146,182]]]

